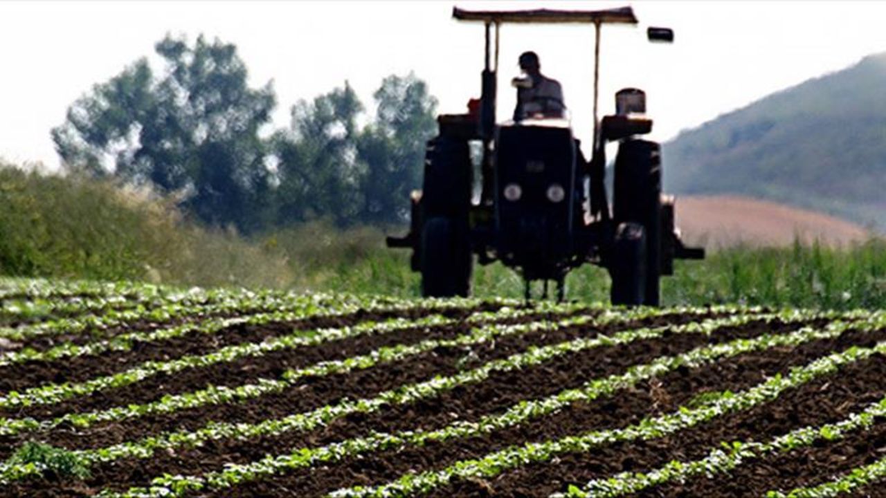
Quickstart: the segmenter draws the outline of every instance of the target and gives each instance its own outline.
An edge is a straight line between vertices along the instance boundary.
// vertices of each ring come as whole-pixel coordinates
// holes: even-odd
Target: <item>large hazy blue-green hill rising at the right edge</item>
[[[684,131],[664,186],[766,198],[886,230],[886,53]]]

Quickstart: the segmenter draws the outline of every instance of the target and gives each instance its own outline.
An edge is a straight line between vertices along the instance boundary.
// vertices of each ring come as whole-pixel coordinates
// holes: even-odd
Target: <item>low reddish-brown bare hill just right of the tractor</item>
[[[805,243],[845,246],[870,235],[828,214],[740,196],[678,197],[676,213],[684,240],[708,249],[790,245],[797,237]]]

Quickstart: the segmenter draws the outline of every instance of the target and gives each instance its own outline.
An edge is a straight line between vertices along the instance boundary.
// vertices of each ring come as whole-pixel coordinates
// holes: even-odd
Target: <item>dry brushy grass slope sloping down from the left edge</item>
[[[204,230],[171,200],[0,164],[0,274],[280,287],[284,255]]]

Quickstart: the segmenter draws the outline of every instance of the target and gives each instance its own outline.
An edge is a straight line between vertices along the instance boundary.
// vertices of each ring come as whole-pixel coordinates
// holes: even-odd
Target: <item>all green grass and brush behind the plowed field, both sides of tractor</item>
[[[663,280],[665,305],[886,307],[882,239],[842,248],[730,247],[675,269]],[[2,165],[0,274],[420,295],[408,251],[385,248],[383,230],[318,221],[245,240],[233,230],[198,228],[150,192]],[[609,297],[601,268],[579,268],[566,285],[572,300]],[[473,290],[520,298],[523,283],[501,264],[477,265]]]

